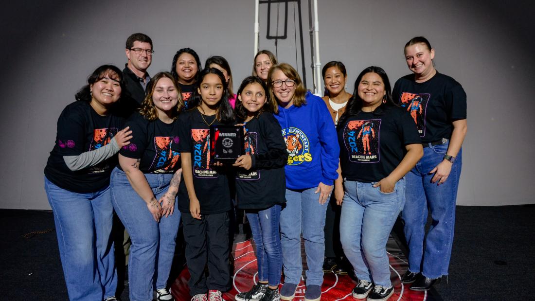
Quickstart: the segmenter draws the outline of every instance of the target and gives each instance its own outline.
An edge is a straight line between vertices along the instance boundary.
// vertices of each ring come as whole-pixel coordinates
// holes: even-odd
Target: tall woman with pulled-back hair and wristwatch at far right
[[[401,282],[425,291],[448,275],[461,146],[467,134],[467,95],[460,83],[435,70],[435,51],[425,37],[411,38],[404,51],[412,73],[396,81],[392,95],[415,122],[424,156],[407,174],[407,206],[401,218],[409,269]],[[433,226],[426,233],[427,212]]]

